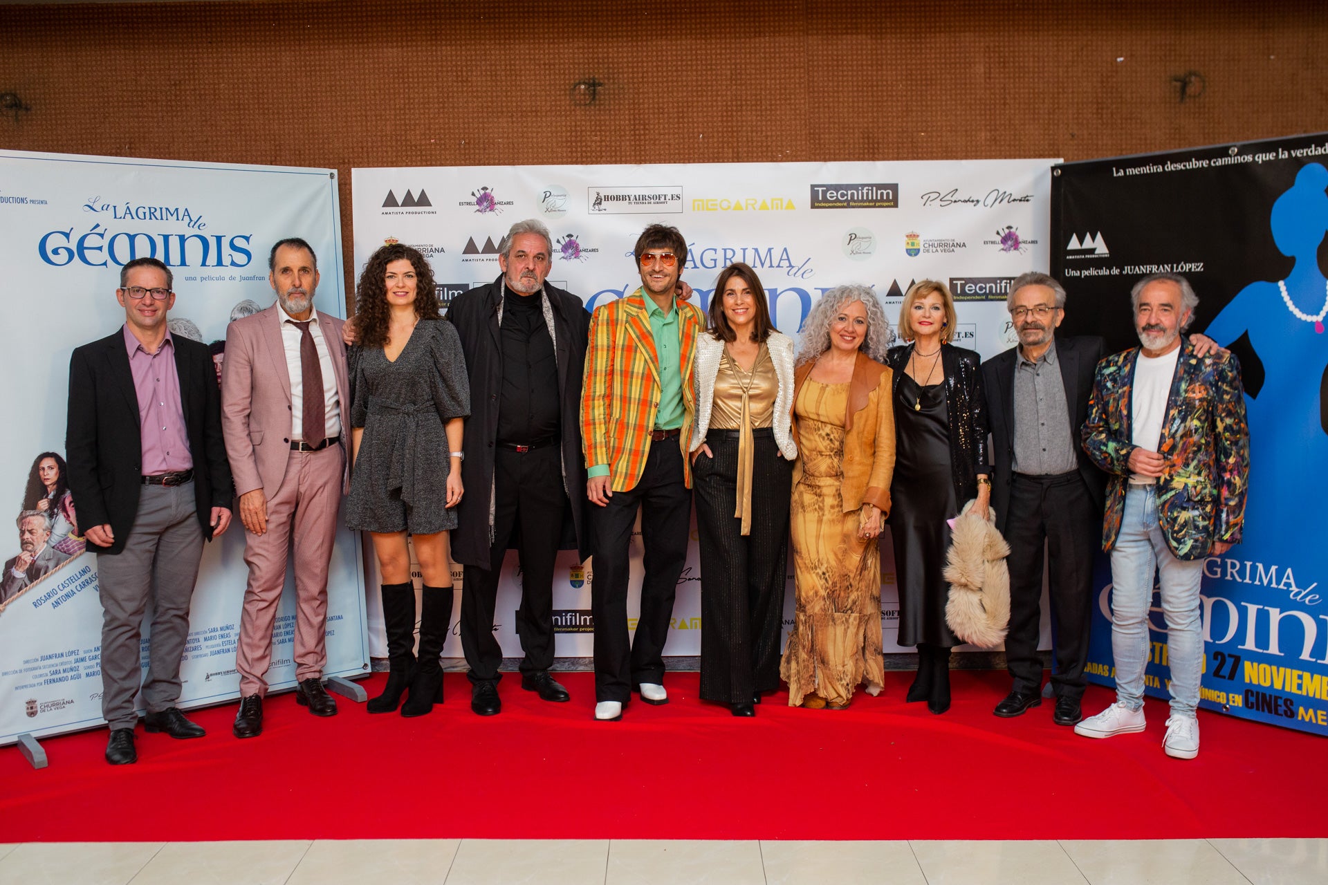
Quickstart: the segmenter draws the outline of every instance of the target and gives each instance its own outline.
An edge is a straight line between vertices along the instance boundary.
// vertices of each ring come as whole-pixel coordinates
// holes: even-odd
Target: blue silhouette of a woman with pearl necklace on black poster
[[[1328,565],[1328,520],[1308,496],[1328,464],[1320,406],[1328,368],[1328,279],[1317,260],[1328,234],[1325,188],[1323,165],[1300,170],[1268,219],[1278,251],[1295,259],[1291,273],[1244,287],[1206,329],[1223,345],[1248,333],[1264,366],[1259,394],[1246,395],[1250,491],[1242,547],[1234,555],[1283,568],[1295,564],[1301,585],[1316,581]],[[1278,579],[1279,586],[1286,582],[1283,575]]]

